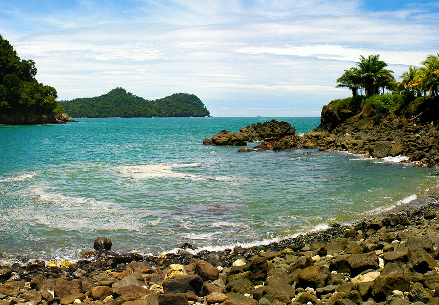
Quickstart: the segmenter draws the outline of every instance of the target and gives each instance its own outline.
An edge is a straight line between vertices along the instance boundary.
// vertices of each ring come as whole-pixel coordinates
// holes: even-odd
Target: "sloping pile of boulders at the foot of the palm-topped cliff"
[[[439,164],[439,130],[432,124],[416,125],[393,118],[374,125],[368,118],[351,118],[331,132],[313,131],[301,139],[303,148],[348,151],[374,158],[407,156],[407,162],[435,167]]]

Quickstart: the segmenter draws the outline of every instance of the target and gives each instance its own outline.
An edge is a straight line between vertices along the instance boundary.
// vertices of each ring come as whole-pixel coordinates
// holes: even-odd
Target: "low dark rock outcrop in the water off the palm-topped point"
[[[278,122],[273,119],[269,122],[252,124],[247,127],[243,127],[239,130],[239,133],[232,133],[227,130],[222,130],[219,133],[212,136],[211,139],[205,138],[203,140],[204,145],[225,145],[225,146],[245,146],[247,141],[261,141],[264,139],[285,138],[284,141],[291,142],[290,137],[296,136],[296,129],[287,122]],[[287,138],[288,137],[288,138]],[[279,144],[281,145],[281,144]],[[287,144],[283,144],[286,146]],[[279,149],[280,150],[280,149]]]

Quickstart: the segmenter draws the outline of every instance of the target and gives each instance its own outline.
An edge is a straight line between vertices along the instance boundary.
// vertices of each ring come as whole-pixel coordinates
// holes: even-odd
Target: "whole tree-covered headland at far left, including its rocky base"
[[[0,35],[0,124],[46,124],[69,121],[57,91],[35,79],[35,61],[21,59]]]

